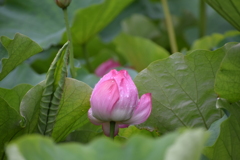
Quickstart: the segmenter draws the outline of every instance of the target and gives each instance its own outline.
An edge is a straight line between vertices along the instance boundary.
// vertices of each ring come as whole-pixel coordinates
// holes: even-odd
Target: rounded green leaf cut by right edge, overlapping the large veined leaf
[[[217,94],[236,102],[240,100],[240,43],[232,46],[226,53],[216,75]]]

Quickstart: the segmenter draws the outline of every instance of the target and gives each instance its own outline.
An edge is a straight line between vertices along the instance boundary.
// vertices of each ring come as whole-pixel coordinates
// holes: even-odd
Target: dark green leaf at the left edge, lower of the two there
[[[0,157],[4,157],[4,146],[16,137],[22,130],[22,117],[0,97]]]

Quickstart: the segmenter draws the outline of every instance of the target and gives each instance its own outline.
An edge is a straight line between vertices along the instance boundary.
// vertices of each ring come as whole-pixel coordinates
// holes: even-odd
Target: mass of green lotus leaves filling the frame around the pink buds
[[[168,4],[176,53],[161,0],[72,0],[72,40],[54,0],[0,0],[0,159],[240,159],[240,2]],[[109,59],[152,94],[114,141],[87,117]]]

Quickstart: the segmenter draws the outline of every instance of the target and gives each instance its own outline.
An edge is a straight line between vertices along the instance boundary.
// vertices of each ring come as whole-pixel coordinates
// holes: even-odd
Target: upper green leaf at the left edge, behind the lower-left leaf
[[[0,88],[0,97],[19,113],[20,102],[31,88],[32,86],[29,84],[20,84],[13,89]]]

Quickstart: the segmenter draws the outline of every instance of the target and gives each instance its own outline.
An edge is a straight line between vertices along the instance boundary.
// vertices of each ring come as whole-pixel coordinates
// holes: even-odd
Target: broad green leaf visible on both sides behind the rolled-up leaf
[[[40,112],[40,100],[45,82],[33,87],[23,97],[20,106],[20,113],[25,117],[27,133],[37,131],[37,124]],[[73,130],[82,126],[81,117],[87,113],[90,107],[90,94],[92,89],[78,80],[66,78],[63,95],[59,106],[56,123],[52,137],[56,141],[65,138]]]

